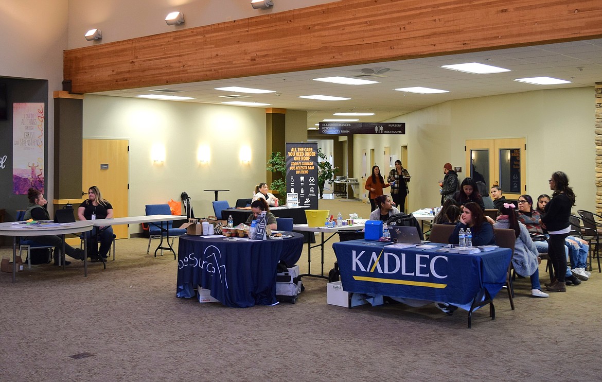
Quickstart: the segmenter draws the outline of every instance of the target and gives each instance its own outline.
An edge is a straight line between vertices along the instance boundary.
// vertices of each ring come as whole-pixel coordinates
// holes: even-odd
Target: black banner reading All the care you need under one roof
[[[318,208],[318,144],[287,142],[287,193],[299,195],[299,206]]]

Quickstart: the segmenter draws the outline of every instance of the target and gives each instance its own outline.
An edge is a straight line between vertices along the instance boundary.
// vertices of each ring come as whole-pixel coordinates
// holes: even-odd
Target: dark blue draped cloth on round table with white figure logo
[[[190,298],[197,285],[230,307],[276,304],[276,269],[280,260],[294,265],[303,236],[284,240],[231,241],[224,236],[182,235],[178,246],[176,295]]]

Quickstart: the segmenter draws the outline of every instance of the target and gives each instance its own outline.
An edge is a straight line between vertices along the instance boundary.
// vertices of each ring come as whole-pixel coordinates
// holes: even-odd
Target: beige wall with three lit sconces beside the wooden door
[[[179,200],[183,191],[197,218],[213,215],[214,193],[204,189],[229,189],[219,198],[234,206],[265,178],[262,108],[86,95],[84,139],[94,138],[129,140],[129,216],[143,215],[146,204]],[[165,148],[163,164],[151,160],[155,145]],[[244,146],[249,164],[239,157]],[[209,148],[208,164],[197,161],[199,147]]]

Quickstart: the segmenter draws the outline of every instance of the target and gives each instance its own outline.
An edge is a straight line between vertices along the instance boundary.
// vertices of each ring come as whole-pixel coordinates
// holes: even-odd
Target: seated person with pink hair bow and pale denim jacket
[[[517,219],[514,211],[514,204],[504,203],[500,207],[501,215],[497,217],[495,228],[510,228],[514,230],[516,242],[514,243],[514,252],[512,252],[512,266],[517,274],[531,277],[531,296],[548,297],[548,293],[541,291],[539,284],[539,263],[538,251],[535,243],[531,240],[527,227]]]

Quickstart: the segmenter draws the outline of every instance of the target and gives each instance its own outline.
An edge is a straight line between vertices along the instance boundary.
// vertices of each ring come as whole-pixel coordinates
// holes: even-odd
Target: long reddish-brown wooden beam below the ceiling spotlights
[[[73,93],[602,37],[600,0],[341,0],[64,52]]]

